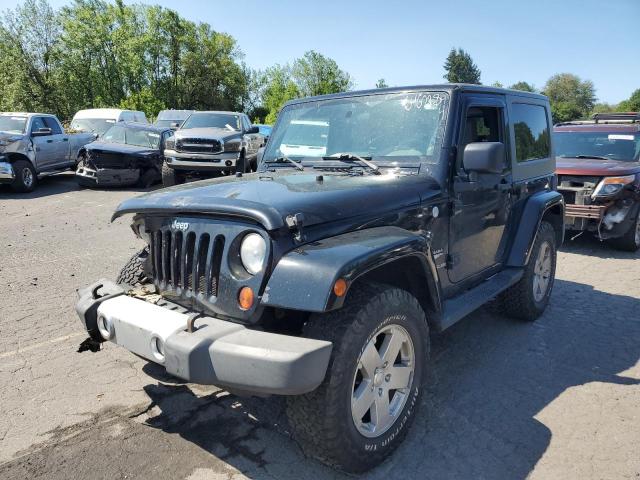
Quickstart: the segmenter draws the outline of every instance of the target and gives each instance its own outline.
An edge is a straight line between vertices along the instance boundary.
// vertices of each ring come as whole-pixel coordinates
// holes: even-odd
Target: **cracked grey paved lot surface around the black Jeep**
[[[0,478],[322,479],[283,401],[181,384],[85,338],[75,290],[140,248],[131,190],[0,188]],[[366,478],[640,478],[640,255],[563,247],[545,315],[491,306],[433,338],[431,382],[396,454]]]

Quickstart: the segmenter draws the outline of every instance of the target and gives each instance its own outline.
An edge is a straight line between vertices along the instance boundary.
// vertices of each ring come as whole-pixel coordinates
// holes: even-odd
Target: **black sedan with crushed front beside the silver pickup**
[[[169,127],[118,122],[80,149],[76,180],[86,187],[149,187],[162,178],[165,142],[171,135]]]

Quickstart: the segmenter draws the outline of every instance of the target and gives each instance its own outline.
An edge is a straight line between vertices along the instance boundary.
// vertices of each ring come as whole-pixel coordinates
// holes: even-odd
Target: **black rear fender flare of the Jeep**
[[[536,240],[540,223],[544,218],[551,220],[556,230],[557,246],[564,240],[564,198],[552,190],[536,193],[529,197],[518,217],[518,224],[506,266],[523,267],[529,263],[531,248]]]

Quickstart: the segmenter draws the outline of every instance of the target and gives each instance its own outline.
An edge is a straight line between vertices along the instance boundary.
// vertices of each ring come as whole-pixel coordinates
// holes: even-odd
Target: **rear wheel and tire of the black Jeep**
[[[549,222],[543,221],[524,275],[498,298],[503,313],[529,322],[542,315],[553,289],[557,255],[555,231]]]

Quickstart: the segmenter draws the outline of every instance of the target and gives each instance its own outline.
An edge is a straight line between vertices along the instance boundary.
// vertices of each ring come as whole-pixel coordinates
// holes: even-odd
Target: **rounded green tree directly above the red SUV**
[[[590,80],[581,80],[571,73],[552,76],[543,93],[551,102],[554,122],[564,122],[589,115],[596,102],[595,89]]]

